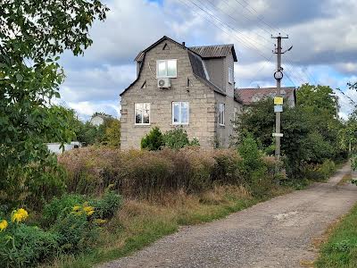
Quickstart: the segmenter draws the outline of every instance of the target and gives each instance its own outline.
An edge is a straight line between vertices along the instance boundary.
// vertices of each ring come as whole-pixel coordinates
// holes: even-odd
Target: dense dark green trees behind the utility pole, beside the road
[[[338,103],[332,88],[303,85],[297,89],[295,107],[284,107],[281,114],[282,155],[286,158],[289,177],[302,175],[304,164],[323,163],[326,159],[345,156],[340,146],[340,131],[344,124],[336,115]],[[272,154],[275,130],[273,100],[263,99],[238,116],[237,141],[241,144],[252,134],[259,147]]]

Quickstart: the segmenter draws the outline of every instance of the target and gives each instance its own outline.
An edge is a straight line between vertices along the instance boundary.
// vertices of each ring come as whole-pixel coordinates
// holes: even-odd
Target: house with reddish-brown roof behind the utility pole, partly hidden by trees
[[[284,97],[287,105],[295,107],[296,89],[294,87],[280,88],[280,95]],[[236,88],[236,98],[246,106],[274,96],[277,96],[277,88]]]

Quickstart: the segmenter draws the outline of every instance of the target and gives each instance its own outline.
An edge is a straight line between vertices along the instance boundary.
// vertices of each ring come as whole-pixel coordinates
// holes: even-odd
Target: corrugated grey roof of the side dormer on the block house
[[[237,62],[237,54],[233,44],[214,46],[190,46],[190,50],[200,54],[203,58],[221,58],[233,54],[233,59]]]

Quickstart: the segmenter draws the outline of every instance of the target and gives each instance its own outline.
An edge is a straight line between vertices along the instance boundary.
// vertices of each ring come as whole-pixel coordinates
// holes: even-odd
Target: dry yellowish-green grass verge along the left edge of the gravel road
[[[122,209],[104,227],[95,250],[77,256],[61,256],[54,267],[92,267],[137,251],[179,230],[180,225],[212,222],[262,200],[291,191],[273,187],[266,197],[252,197],[243,187],[218,186],[202,194],[183,191],[158,200],[125,201]]]

